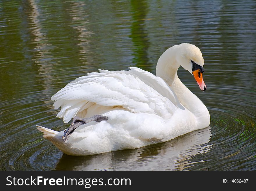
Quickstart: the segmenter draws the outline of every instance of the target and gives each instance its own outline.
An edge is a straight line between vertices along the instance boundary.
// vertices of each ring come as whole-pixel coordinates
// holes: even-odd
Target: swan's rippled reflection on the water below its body
[[[63,154],[56,170],[183,170],[194,163],[190,158],[210,151],[211,128],[207,127],[174,140],[139,149],[113,151],[91,156]]]

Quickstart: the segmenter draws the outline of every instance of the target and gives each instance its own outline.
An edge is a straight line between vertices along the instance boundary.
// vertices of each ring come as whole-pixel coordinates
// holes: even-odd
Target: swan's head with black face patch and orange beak
[[[206,90],[202,75],[204,72],[204,58],[200,49],[188,43],[177,46],[179,46],[179,53],[176,54],[177,62],[194,76],[199,88],[204,92]]]

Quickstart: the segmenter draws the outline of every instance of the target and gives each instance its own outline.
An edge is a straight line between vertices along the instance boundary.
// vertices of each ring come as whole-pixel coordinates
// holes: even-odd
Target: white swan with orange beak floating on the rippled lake
[[[63,143],[64,131],[38,126],[44,137],[68,155],[92,155],[164,142],[209,126],[206,106],[177,76],[179,66],[194,75],[200,89],[204,59],[193,44],[179,44],[159,58],[156,76],[142,69],[100,70],[67,84],[51,100],[57,117],[103,115],[108,120],[83,124]]]

